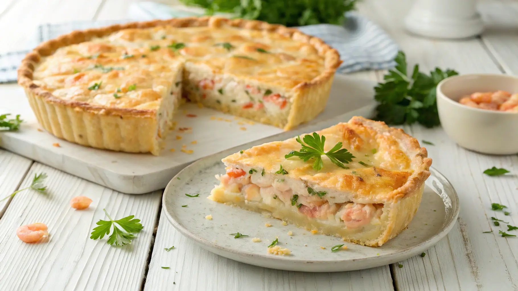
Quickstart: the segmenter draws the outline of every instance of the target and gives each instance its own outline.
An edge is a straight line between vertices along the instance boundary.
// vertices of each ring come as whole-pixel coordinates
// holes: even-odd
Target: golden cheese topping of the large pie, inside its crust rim
[[[324,70],[324,58],[311,44],[280,34],[156,26],[124,29],[57,49],[42,58],[34,80],[64,100],[155,110],[184,62],[266,85],[258,88],[259,95],[290,90]]]

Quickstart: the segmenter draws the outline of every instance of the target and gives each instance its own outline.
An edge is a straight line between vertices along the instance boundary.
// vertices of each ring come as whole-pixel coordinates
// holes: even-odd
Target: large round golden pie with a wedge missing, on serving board
[[[324,110],[336,50],[295,28],[220,17],[75,31],[18,70],[38,122],[61,139],[158,155],[182,95],[289,130]]]

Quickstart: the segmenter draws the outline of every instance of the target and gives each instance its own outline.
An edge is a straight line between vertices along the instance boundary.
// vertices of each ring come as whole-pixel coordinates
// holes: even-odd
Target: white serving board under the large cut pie
[[[362,109],[358,114],[370,117],[375,106],[373,86],[372,81],[337,75],[325,111],[299,128],[358,109]],[[163,189],[170,177],[199,158],[282,132],[280,128],[185,104],[176,115],[178,126],[168,135],[161,156],[99,150],[38,131],[38,123],[23,90],[10,85],[4,86],[3,92],[5,102],[0,104],[0,112],[21,114],[25,122],[19,132],[0,133],[1,147],[124,193],[141,194]],[[192,130],[182,132],[180,128]],[[53,146],[55,143],[60,147]],[[182,152],[183,145],[194,152]]]

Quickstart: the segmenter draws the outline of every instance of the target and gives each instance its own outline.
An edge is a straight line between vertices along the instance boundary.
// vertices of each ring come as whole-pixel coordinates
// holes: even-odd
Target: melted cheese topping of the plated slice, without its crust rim
[[[290,151],[301,148],[295,137],[254,146],[244,150],[243,154],[237,152],[222,161],[227,166],[244,170],[254,168],[257,173],[264,169],[268,173],[264,177],[279,171],[282,165],[288,174],[276,174],[276,178],[302,180],[307,187],[316,187],[315,191],[347,192],[352,194],[353,201],[362,201],[358,203],[382,203],[390,198],[387,194],[407,182],[413,173],[412,161],[397,137],[366,126],[362,123],[366,119],[362,117],[353,117],[352,120],[317,131],[326,138],[324,151],[342,142],[342,148],[353,154],[353,162],[345,164],[348,169],[338,167],[326,156],[322,156],[324,166],[320,171],[313,169],[313,159],[307,162],[298,157],[286,159],[284,156]],[[330,199],[335,194],[339,195],[328,193],[324,198]]]

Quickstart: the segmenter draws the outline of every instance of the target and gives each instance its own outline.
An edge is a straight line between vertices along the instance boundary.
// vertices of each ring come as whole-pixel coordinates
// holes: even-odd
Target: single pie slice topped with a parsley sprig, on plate
[[[327,155],[311,152],[322,144]],[[367,246],[408,226],[431,165],[413,137],[363,117],[222,161],[226,174],[209,199]]]

